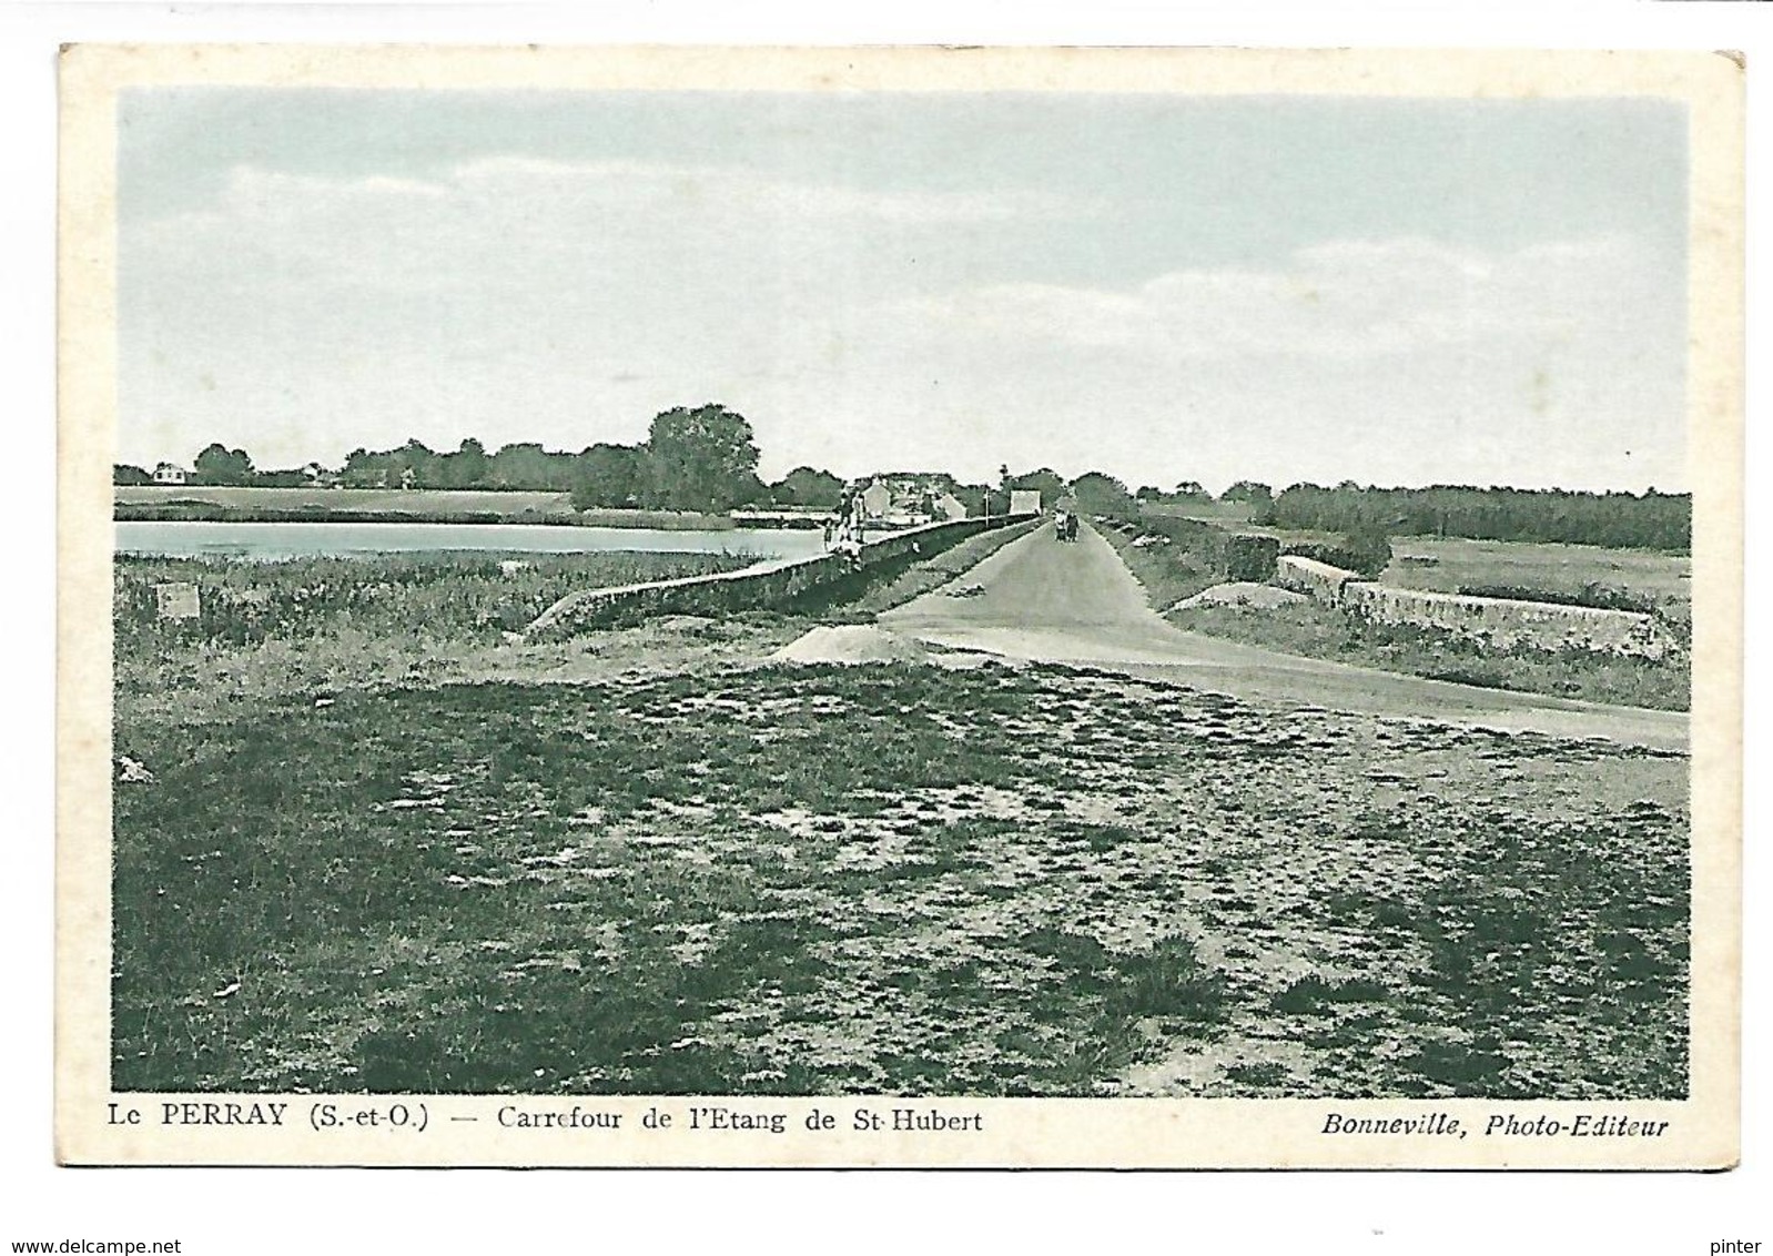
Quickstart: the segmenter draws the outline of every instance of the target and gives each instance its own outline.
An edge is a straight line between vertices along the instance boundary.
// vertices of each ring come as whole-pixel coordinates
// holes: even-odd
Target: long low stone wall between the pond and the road
[[[617,619],[645,616],[722,616],[775,607],[810,589],[847,580],[871,566],[906,557],[931,557],[970,536],[1023,523],[1028,516],[952,520],[906,529],[869,541],[855,555],[819,553],[743,571],[652,580],[613,589],[571,593],[548,607],[525,630],[530,640],[555,640]]]

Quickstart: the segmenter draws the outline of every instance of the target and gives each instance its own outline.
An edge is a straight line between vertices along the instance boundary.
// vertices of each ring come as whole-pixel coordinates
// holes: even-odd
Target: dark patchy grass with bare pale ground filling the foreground
[[[1028,667],[137,722],[113,1086],[1686,1093],[1686,761]]]

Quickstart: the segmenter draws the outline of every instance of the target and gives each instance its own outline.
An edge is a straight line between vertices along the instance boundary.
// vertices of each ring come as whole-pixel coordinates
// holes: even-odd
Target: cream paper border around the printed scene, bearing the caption
[[[163,763],[119,759],[112,724],[112,486],[106,465],[128,461],[119,404],[121,353],[140,328],[121,326],[119,170],[128,140],[119,128],[124,94],[183,89],[232,92],[401,90],[417,94],[418,114],[463,92],[780,92],[855,99],[1028,94],[1050,103],[1089,103],[1096,96],[1170,99],[1262,98],[1321,106],[1326,115],[1349,101],[1560,101],[1624,99],[1684,112],[1686,484],[1691,520],[1691,720],[1690,758],[1690,1031],[1679,1080],[1645,1096],[1621,1080],[1583,1089],[1582,1098],[1535,1098],[1519,1089],[1484,1093],[1479,1079],[1454,1070],[1429,1093],[1337,1093],[1300,1087],[1261,1098],[1190,1091],[1172,1075],[1165,1093],[1126,1091],[1012,1096],[1016,1087],[846,1086],[830,1075],[817,1086],[738,1086],[729,1091],[624,1089],[619,1082],[582,1091],[452,1086],[449,1073],[426,1073],[406,1087],[365,1086],[365,1070],[417,1077],[418,1040],[394,1038],[392,1059],[356,1057],[324,1075],[301,1073],[301,1086],[266,1089],[188,1089],[151,1084],[113,1087],[122,1029],[113,1024],[113,947],[138,938],[113,931],[113,789],[138,775],[167,775]],[[1431,53],[1431,51],[1234,51],[1234,50],[465,50],[465,48],[106,48],[76,46],[62,66],[60,183],[60,720],[59,720],[59,1009],[57,1146],[67,1164],[387,1164],[387,1166],[924,1166],[924,1167],[1661,1167],[1716,1169],[1738,1157],[1739,1079],[1739,676],[1741,676],[1741,67],[1706,53]],[[722,108],[711,96],[707,108]],[[842,165],[833,156],[833,188],[842,202]],[[358,170],[397,183],[397,170]],[[635,179],[638,169],[628,170]],[[300,176],[291,176],[293,179]],[[995,222],[995,208],[906,193],[886,216],[901,222],[933,213]],[[431,195],[422,183],[402,184]],[[722,188],[713,190],[716,195]],[[296,183],[248,190],[275,213],[280,197],[300,197]],[[745,190],[732,195],[750,195]],[[956,193],[959,195],[959,193]],[[195,213],[200,213],[197,209]],[[1039,213],[1039,209],[1037,209]],[[365,241],[369,250],[374,241]],[[777,241],[780,247],[780,241]],[[365,270],[374,270],[365,255]],[[243,255],[241,268],[291,264]],[[294,263],[300,266],[300,259]],[[227,266],[220,268],[223,279]],[[833,284],[851,277],[833,275]],[[365,282],[372,282],[372,277]],[[1027,298],[1028,293],[1023,293]],[[984,310],[986,319],[996,310]],[[321,328],[310,328],[323,341]],[[278,328],[300,349],[303,328]],[[1351,349],[1353,351],[1353,349]],[[449,362],[438,358],[438,371]],[[700,397],[695,397],[700,401]],[[140,415],[138,420],[160,420]],[[1037,419],[1034,420],[1039,422]],[[1112,417],[1103,420],[1112,424]],[[840,420],[837,420],[840,429]],[[511,440],[521,440],[511,433]],[[858,436],[860,438],[860,436]],[[223,449],[223,452],[227,452]],[[1535,472],[1553,451],[1518,451],[1519,483],[1557,475]],[[1039,463],[1032,463],[1039,465]],[[152,470],[152,468],[149,468]],[[1019,470],[1019,468],[1018,468]],[[1069,474],[1087,467],[1069,468]],[[1383,483],[1383,475],[1374,475]],[[1502,477],[1496,479],[1502,483]],[[1278,486],[1277,486],[1278,488]],[[188,594],[168,593],[170,603]],[[342,692],[342,690],[340,690]],[[332,703],[332,697],[321,699]],[[323,708],[324,710],[324,708]],[[1433,713],[1429,713],[1433,717]],[[1339,726],[1340,727],[1340,726]],[[1523,726],[1535,736],[1544,727]],[[1211,736],[1211,734],[1209,734]],[[1550,734],[1550,736],[1555,736]],[[1580,733],[1576,736],[1582,736]],[[1629,758],[1629,756],[1628,756]],[[275,772],[261,761],[261,772]],[[135,777],[131,775],[135,773]],[[117,784],[113,784],[117,782]],[[411,784],[411,782],[408,782]],[[447,782],[445,782],[447,784]],[[1624,786],[1629,788],[1629,786]],[[312,800],[293,797],[291,805]],[[429,807],[426,798],[397,798]],[[1629,798],[1617,800],[1621,804]],[[177,800],[161,807],[177,807]],[[454,832],[454,830],[452,830]],[[457,837],[472,837],[463,832]],[[216,834],[255,841],[254,834]],[[206,843],[207,844],[207,843]],[[222,853],[220,850],[216,852]],[[195,857],[193,857],[195,859]],[[365,864],[374,853],[365,852]],[[200,869],[197,869],[200,871]],[[346,867],[346,882],[369,878]],[[1301,871],[1314,876],[1316,871]],[[1571,875],[1576,875],[1573,869]],[[168,887],[160,887],[167,891]],[[252,891],[243,891],[252,892]],[[220,910],[222,903],[197,903]],[[135,910],[135,908],[131,908]],[[1110,905],[1112,914],[1112,905]],[[147,919],[137,912],[131,919]],[[397,928],[401,921],[388,921]],[[495,930],[496,933],[496,930]],[[1074,937],[1074,935],[1067,935]],[[693,938],[691,938],[693,940]],[[502,946],[498,937],[486,942]],[[415,940],[413,946],[427,946]],[[764,944],[768,946],[768,944]],[[1136,947],[1135,947],[1136,949]],[[693,946],[686,954],[693,954]],[[287,956],[264,956],[277,967]],[[681,956],[679,956],[681,958]],[[941,956],[931,956],[931,962]],[[1051,956],[1050,956],[1051,958]],[[170,963],[172,956],[168,956]],[[443,956],[440,962],[449,962]],[[574,958],[574,963],[580,960]],[[1055,960],[1057,962],[1057,960]],[[1236,956],[1230,958],[1236,962]],[[691,963],[684,960],[684,963]],[[324,965],[321,965],[324,967]],[[574,969],[576,972],[576,969]],[[621,965],[615,965],[621,974]],[[257,977],[211,974],[176,1008],[218,1008]],[[379,976],[379,972],[378,972]],[[365,999],[387,997],[363,986]],[[333,997],[348,995],[348,985]],[[613,999],[613,995],[612,995]],[[193,1002],[195,1001],[195,1002]],[[1094,1004],[1092,1004],[1094,1006]],[[743,1009],[741,1009],[743,1011]],[[232,1013],[229,1013],[232,1015]],[[296,1015],[319,1015],[312,1008]],[[326,1015],[332,1015],[330,1011]],[[612,1017],[644,1018],[644,1008]],[[152,1056],[152,1017],[128,1027],[131,1056]],[[374,1032],[383,1032],[379,1018]],[[741,1018],[743,1020],[743,1018]],[[188,1017],[186,1024],[225,1024]],[[1580,1020],[1576,1024],[1582,1024]],[[989,1027],[950,1027],[984,1043]],[[181,1031],[188,1032],[188,1031]],[[1144,1031],[1140,1031],[1144,1032]],[[1596,1031],[1603,1032],[1603,1031]],[[293,1040],[300,1040],[300,1029]],[[356,1041],[367,1041],[369,1034]],[[521,1036],[518,1038],[521,1041]],[[693,1050],[688,1040],[660,1043]],[[1507,1043],[1502,1043],[1507,1047]],[[168,1047],[168,1052],[172,1048]],[[193,1043],[193,1057],[227,1052]],[[1358,1036],[1349,1052],[1372,1052]],[[1461,1059],[1500,1047],[1454,1040]],[[1589,1050],[1582,1038],[1571,1056]],[[1422,1054],[1422,1052],[1418,1052]],[[1197,1052],[1199,1056],[1199,1052]],[[1207,1052],[1211,1056],[1211,1052]],[[1424,1056],[1425,1057],[1425,1056]],[[367,1061],[367,1063],[365,1063]],[[777,1061],[782,1063],[782,1061]],[[785,1061],[794,1064],[796,1061]],[[1459,1061],[1456,1061],[1457,1064]],[[126,1061],[128,1064],[128,1061]],[[468,1061],[475,1064],[475,1061]],[[135,1066],[135,1064],[128,1064]],[[541,1070],[546,1072],[546,1070]],[[778,1070],[780,1072],[780,1070]],[[1122,1070],[1126,1072],[1126,1070]],[[138,1073],[152,1080],[151,1070]],[[183,1077],[167,1073],[165,1077]],[[243,1073],[245,1075],[245,1073]],[[296,1075],[289,1070],[285,1077]],[[791,1073],[793,1075],[793,1073]],[[1234,1077],[1273,1087],[1273,1077],[1245,1070]],[[1269,1080],[1261,1080],[1269,1079]],[[1461,1089],[1463,1087],[1463,1089]],[[1135,1089],[1136,1087],[1126,1087]],[[1163,1091],[1165,1086],[1152,1086]],[[613,1091],[613,1093],[612,1093]],[[782,1091],[782,1093],[775,1093]],[[1480,1096],[1472,1096],[1473,1093]]]

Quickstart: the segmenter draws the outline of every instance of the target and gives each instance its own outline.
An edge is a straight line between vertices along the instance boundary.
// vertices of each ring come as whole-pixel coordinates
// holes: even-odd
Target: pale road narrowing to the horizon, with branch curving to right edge
[[[881,614],[879,624],[933,646],[1090,663],[1261,703],[1592,736],[1660,750],[1688,745],[1686,711],[1452,685],[1181,632],[1151,610],[1144,585],[1089,527],[1071,545],[1055,539],[1051,525],[1039,527],[941,589]]]

